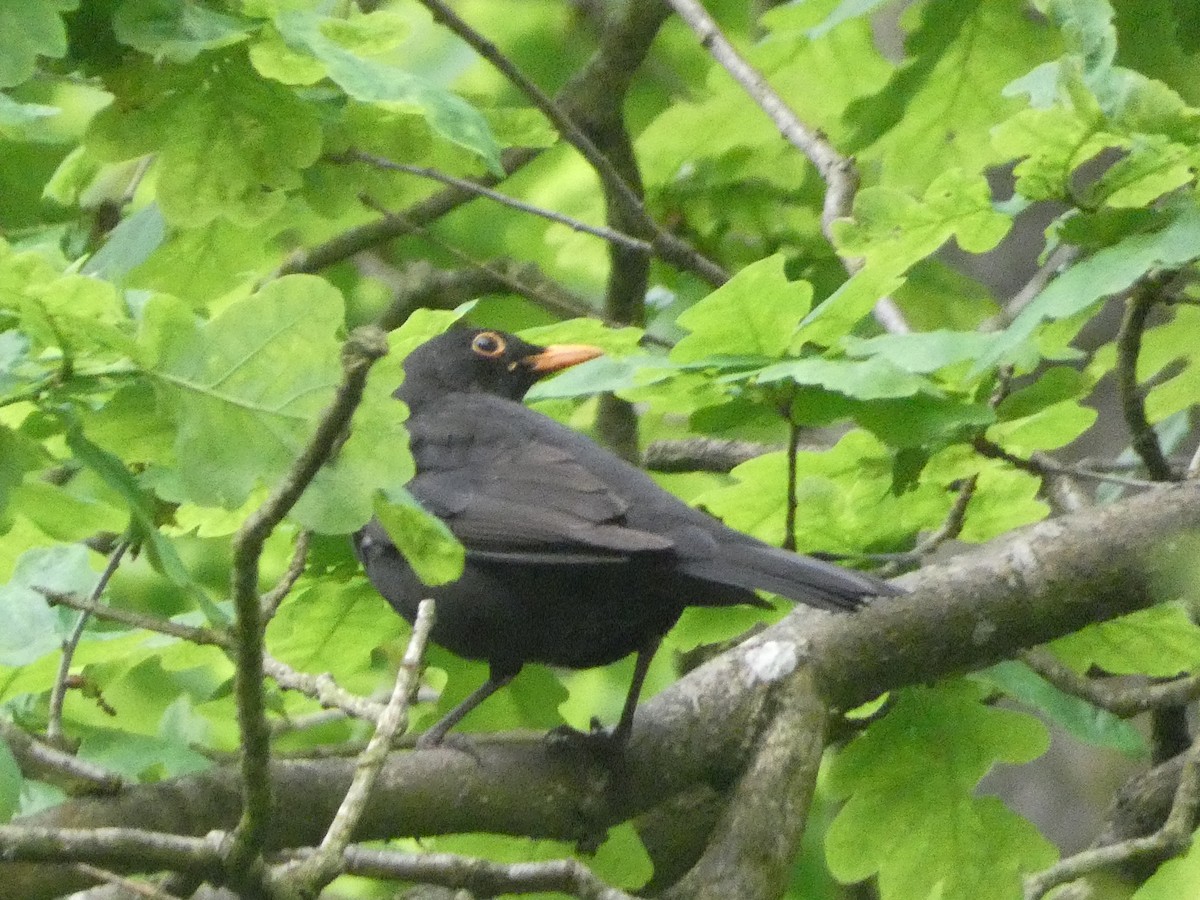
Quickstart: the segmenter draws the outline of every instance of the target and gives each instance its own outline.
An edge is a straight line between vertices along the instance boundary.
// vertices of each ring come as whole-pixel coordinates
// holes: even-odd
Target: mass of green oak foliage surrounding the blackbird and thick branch
[[[240,529],[293,476],[354,329],[372,322],[403,324],[254,560],[264,598],[282,586],[264,600],[266,653],[359,700],[391,683],[408,629],[347,535],[376,516],[428,583],[461,571],[462,548],[404,488],[392,397],[403,356],[458,319],[604,347],[530,401],[612,443],[614,408],[643,448],[752,442],[734,467],[656,476],[762,540],[886,574],[1196,474],[1189,4],[1037,0],[1030,14],[1018,0],[809,0],[754,20],[707,4],[853,167],[832,222],[832,185],[761,95],[664,23],[665,5],[602,6],[460,12],[612,170],[439,4],[0,0],[5,724],[128,782],[244,746]],[[311,541],[299,563],[298,541]],[[102,576],[116,547],[132,558]],[[1102,684],[1196,676],[1194,575],[1044,652]],[[50,602],[64,596],[116,614]],[[690,611],[648,691],[757,618]],[[418,727],[481,677],[437,648],[426,662],[421,698],[436,700],[414,708]],[[611,719],[628,677],[624,664],[530,667],[466,726]],[[272,752],[370,734],[288,686],[263,688]],[[790,895],[875,880],[884,900],[1020,896],[1058,852],[979,794],[989,770],[1043,756],[1048,722],[1105,760],[1156,751],[1130,716],[1067,686],[1014,659],[863,712],[828,755],[815,809],[832,811],[809,822],[823,851],[788,859]],[[4,818],[66,799],[19,757],[0,740]],[[612,830],[598,875],[638,889],[671,870],[644,824]],[[504,863],[570,852],[494,835],[424,848]],[[1112,896],[1180,896],[1198,858]]]

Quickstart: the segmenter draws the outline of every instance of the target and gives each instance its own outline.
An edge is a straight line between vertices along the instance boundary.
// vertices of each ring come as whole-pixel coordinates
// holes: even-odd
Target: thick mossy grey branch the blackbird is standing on
[[[768,642],[794,648],[798,665],[808,659],[822,702],[851,708],[1145,608],[1160,599],[1159,576],[1189,562],[1186,542],[1174,540],[1189,529],[1200,529],[1200,485],[1171,485],[929,566],[905,577],[910,596],[854,616],[797,610],[646,703],[628,750],[626,787],[600,809],[581,799],[590,794],[586,773],[540,740],[480,742],[478,762],[454,750],[395,752],[355,838],[494,832],[574,840],[583,822],[625,821],[696,785],[728,784],[745,766],[766,704],[792,677],[786,667],[775,682],[760,677],[755,656]],[[352,772],[346,760],[275,763],[269,846],[317,844]],[[25,823],[205,834],[228,828],[239,811],[236,773],[216,769],[74,800]],[[0,900],[37,900],[80,883],[62,868],[0,866]]]

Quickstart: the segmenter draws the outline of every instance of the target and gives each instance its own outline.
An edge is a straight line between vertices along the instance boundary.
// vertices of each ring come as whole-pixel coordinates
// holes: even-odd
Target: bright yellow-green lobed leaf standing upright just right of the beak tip
[[[672,362],[713,355],[782,356],[812,306],[812,286],[788,281],[784,257],[767,257],[679,316],[691,334],[671,350]]]

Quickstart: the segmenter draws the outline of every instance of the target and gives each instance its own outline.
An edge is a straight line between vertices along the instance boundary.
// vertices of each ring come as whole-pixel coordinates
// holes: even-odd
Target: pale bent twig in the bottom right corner
[[[1200,808],[1200,744],[1188,751],[1180,786],[1166,823],[1146,838],[1093,847],[1063,859],[1025,881],[1025,900],[1040,900],[1060,884],[1067,884],[1085,875],[1111,869],[1134,859],[1166,859],[1182,853],[1192,842],[1192,828]]]

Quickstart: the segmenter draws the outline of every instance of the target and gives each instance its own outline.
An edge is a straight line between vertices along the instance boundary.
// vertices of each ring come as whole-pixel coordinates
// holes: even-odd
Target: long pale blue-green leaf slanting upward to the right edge
[[[1200,257],[1200,208],[1189,200],[1178,204],[1162,230],[1130,235],[1097,251],[1051,281],[1001,332],[991,350],[976,364],[974,372],[1015,358],[1044,322],[1074,316],[1106,296],[1127,290],[1152,269],[1175,269],[1196,257]]]

